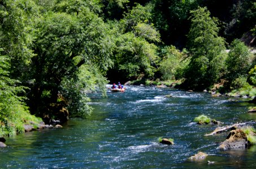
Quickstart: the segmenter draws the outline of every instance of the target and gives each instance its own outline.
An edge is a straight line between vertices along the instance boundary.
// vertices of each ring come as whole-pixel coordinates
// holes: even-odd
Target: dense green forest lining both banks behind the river
[[[255,18],[253,0],[2,0],[0,134],[85,117],[110,82],[255,96]]]

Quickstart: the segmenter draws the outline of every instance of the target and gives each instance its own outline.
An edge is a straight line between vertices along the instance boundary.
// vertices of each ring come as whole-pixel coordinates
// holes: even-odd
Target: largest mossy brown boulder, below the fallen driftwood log
[[[227,139],[219,146],[219,149],[246,148],[248,146],[247,137],[241,129],[229,132]]]

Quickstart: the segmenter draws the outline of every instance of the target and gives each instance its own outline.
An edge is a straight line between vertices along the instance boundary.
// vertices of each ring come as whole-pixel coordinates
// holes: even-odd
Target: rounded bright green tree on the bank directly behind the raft
[[[120,35],[116,42],[116,65],[128,78],[152,78],[155,72],[153,65],[157,61],[157,46],[137,38],[133,33]]]

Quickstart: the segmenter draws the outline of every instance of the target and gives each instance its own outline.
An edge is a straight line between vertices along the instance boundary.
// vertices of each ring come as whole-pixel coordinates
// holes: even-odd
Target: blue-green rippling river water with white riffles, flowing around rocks
[[[256,168],[256,145],[219,150],[228,132],[204,136],[216,126],[193,122],[201,114],[225,125],[254,120],[248,99],[142,86],[107,95],[90,95],[94,111],[87,119],[6,138],[0,168]],[[159,144],[159,137],[175,145]],[[188,160],[199,151],[209,156]]]

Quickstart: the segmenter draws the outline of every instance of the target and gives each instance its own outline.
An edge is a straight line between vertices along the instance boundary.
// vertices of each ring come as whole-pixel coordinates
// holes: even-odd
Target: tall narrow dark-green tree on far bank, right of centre
[[[188,34],[188,47],[191,61],[186,70],[186,79],[195,88],[207,87],[220,77],[223,64],[216,64],[216,58],[225,50],[225,41],[218,36],[217,20],[210,17],[206,7],[191,12],[191,28]],[[220,61],[224,61],[223,59]]]

